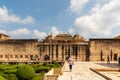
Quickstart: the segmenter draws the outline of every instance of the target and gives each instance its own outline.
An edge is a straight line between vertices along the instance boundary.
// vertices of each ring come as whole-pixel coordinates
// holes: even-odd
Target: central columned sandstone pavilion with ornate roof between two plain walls
[[[63,61],[69,56],[74,60],[89,60],[88,42],[79,34],[74,36],[70,34],[58,34],[53,36],[52,33],[39,42],[40,56],[48,57],[50,60]]]

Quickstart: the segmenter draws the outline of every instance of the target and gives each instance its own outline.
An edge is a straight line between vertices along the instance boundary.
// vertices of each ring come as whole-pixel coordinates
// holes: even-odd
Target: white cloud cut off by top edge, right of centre
[[[89,0],[71,0],[69,11],[73,13],[79,13]]]

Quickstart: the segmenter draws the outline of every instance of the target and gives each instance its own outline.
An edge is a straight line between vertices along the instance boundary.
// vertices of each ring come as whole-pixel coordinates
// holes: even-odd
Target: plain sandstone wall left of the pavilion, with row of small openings
[[[0,41],[0,61],[22,62],[39,57],[37,40]]]

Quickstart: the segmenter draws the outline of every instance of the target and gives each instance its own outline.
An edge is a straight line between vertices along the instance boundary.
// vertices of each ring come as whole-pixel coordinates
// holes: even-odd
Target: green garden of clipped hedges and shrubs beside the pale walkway
[[[3,80],[43,80],[44,73],[51,68],[59,67],[60,65],[56,61],[52,61],[51,64],[48,62],[31,65],[0,64],[0,75]],[[35,72],[38,75],[35,75]]]

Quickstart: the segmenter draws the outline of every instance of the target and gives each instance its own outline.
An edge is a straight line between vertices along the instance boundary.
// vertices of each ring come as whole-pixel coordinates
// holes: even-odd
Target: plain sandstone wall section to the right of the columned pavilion
[[[116,61],[120,56],[120,39],[90,39],[90,60]]]

